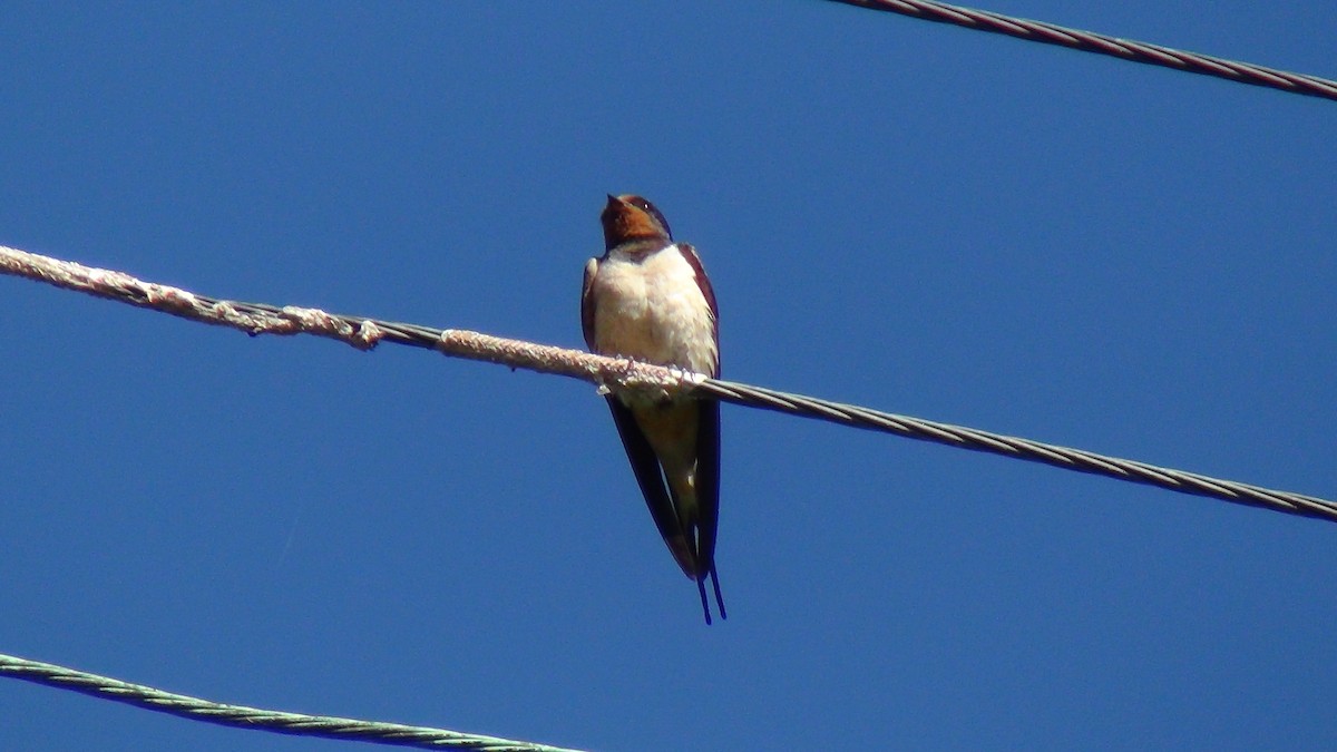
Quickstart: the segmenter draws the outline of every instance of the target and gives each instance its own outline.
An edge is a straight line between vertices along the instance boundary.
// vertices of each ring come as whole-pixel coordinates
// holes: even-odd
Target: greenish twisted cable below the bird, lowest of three
[[[146,711],[180,716],[231,728],[262,729],[291,736],[314,736],[344,741],[369,741],[396,747],[420,747],[424,749],[471,749],[477,752],[578,752],[547,744],[513,741],[495,736],[460,733],[441,728],[360,721],[334,716],[308,716],[305,713],[283,713],[263,711],[245,705],[225,705],[174,694],[124,681],[98,676],[95,673],[67,669],[52,664],[29,661],[15,656],[0,654],[0,676],[31,681],[44,686],[70,689],[114,702],[124,702]]]

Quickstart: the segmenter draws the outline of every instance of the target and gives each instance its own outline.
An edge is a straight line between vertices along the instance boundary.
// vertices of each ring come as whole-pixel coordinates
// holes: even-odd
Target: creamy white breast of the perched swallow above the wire
[[[715,324],[697,272],[678,246],[643,260],[610,254],[594,278],[595,349],[715,373]]]

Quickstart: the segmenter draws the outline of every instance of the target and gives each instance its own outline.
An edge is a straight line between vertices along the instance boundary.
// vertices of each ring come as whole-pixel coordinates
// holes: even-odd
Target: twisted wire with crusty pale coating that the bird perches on
[[[701,373],[687,373],[675,368],[604,357],[583,351],[540,345],[523,340],[508,340],[461,329],[443,331],[416,324],[396,324],[393,321],[380,321],[360,316],[341,316],[314,308],[278,308],[265,304],[218,300],[198,296],[180,288],[144,282],[120,272],[95,269],[5,246],[0,246],[0,273],[40,280],[57,288],[118,300],[140,308],[151,308],[194,321],[231,326],[253,336],[316,335],[340,340],[358,349],[370,349],[377,343],[388,340],[412,347],[436,349],[455,357],[497,363],[540,373],[571,376],[614,391],[632,389],[654,393],[674,393],[682,389],[695,391],[745,407],[813,417],[923,442],[935,442],[964,450],[1039,462],[1078,472],[1144,483],[1181,494],[1209,496],[1238,504],[1337,522],[1337,503],[1317,496],[1274,491],[1247,483],[1209,478],[1195,472],[1157,467],[1143,462],[1119,459],[1016,436],[991,434],[977,428],[893,415],[858,405],[751,387],[749,384],[721,381],[718,379],[709,379]]]

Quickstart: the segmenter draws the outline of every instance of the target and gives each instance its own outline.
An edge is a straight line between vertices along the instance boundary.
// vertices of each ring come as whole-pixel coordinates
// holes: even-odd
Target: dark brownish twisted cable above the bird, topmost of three
[[[1337,100],[1337,82],[1334,80],[1306,74],[1278,71],[1275,68],[1265,68],[1262,66],[1254,66],[1253,63],[1213,58],[1211,55],[1186,52],[1183,50],[1148,44],[1146,41],[1118,39],[1103,33],[1060,27],[1044,21],[1004,16],[1003,13],[993,13],[991,11],[977,11],[975,8],[948,5],[947,3],[935,3],[933,0],[834,1],[872,11],[900,13],[902,16],[912,16],[927,21],[953,24],[976,31],[1004,33],[1007,36],[1015,36],[1028,41],[1055,44],[1070,50],[1080,50],[1083,52],[1110,55],[1111,58],[1119,58],[1132,63],[1161,66],[1163,68],[1215,76],[1237,83],[1263,86],[1267,88],[1289,91],[1292,94]]]

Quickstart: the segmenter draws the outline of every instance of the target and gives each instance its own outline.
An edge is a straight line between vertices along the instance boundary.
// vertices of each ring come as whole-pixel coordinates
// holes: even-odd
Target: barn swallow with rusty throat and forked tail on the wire
[[[591,352],[719,376],[719,312],[697,250],[639,195],[610,195],[599,221],[604,254],[586,264],[580,325]],[[693,396],[607,395],[612,423],[650,515],[710,624],[719,522],[719,403]]]

